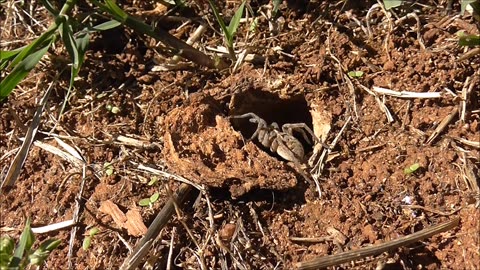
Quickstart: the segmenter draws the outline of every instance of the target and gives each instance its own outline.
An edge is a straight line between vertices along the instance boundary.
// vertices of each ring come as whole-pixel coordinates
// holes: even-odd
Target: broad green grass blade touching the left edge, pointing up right
[[[42,59],[42,56],[47,53],[49,47],[50,44],[47,44],[45,47],[27,56],[0,82],[0,100],[6,98],[17,84],[27,76],[30,70]]]

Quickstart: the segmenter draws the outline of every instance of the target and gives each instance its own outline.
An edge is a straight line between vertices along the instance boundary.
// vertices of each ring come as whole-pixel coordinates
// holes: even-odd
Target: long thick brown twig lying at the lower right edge
[[[346,251],[346,252],[342,252],[335,255],[322,256],[310,261],[297,263],[296,266],[298,269],[301,269],[301,270],[321,269],[329,266],[340,265],[342,263],[346,263],[350,261],[359,260],[368,256],[375,256],[378,254],[382,254],[383,252],[397,249],[399,247],[407,246],[417,241],[429,238],[435,234],[450,230],[455,226],[457,226],[459,222],[460,222],[460,218],[457,217],[451,221],[447,221],[447,222],[432,226],[430,228],[423,229],[419,232],[412,233],[404,237],[400,237],[398,239],[392,240],[387,243],[368,246],[368,247],[360,248],[357,250]]]

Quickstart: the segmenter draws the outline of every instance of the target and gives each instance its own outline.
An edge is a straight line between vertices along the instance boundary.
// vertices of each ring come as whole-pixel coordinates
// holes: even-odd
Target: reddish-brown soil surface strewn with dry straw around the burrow
[[[478,22],[468,14],[457,16],[456,1],[451,14],[448,1],[407,4],[390,19],[374,9],[370,28],[367,11],[376,1],[287,2],[280,6],[276,32],[260,13],[268,2],[250,3],[257,28],[248,32],[250,25],[241,24],[237,49],[247,44],[257,60],[235,72],[193,64],[153,71],[168,59],[154,41],[122,28],[94,36],[62,116],[68,72],[53,84],[42,115],[35,140],[43,145],[32,145],[14,187],[2,190],[2,235],[18,239],[27,217],[33,227],[72,219],[80,203],[71,256],[71,228],[37,235],[62,239],[47,268],[65,269],[71,261],[75,269],[117,269],[178,187],[175,178],[142,169],[148,166],[184,177],[205,192],[168,222],[142,268],[171,263],[174,269],[200,269],[202,261],[207,269],[292,269],[459,217],[460,224],[445,233],[339,268],[479,269],[480,57],[459,60],[471,48],[458,46],[456,34],[479,34]],[[178,15],[208,13],[204,18],[217,27],[201,3]],[[162,12],[142,5],[127,10],[146,20]],[[236,6],[228,2],[224,15],[231,17]],[[420,28],[415,18],[401,19],[411,12],[418,14]],[[46,14],[39,12],[37,19]],[[14,30],[11,17],[0,17],[6,29],[2,40],[15,41],[15,48],[44,31],[38,25]],[[196,28],[180,25],[164,27],[182,40]],[[209,29],[195,46],[204,51],[220,45],[222,37]],[[38,100],[68,59],[61,49],[52,51],[2,102],[2,178]],[[363,76],[349,78],[349,71]],[[442,95],[384,96],[374,87]],[[326,144],[335,142],[322,170],[317,161],[325,149],[300,132],[293,135],[305,156],[295,161],[258,137],[249,140],[257,123],[231,118],[249,112],[279,127],[305,123]],[[81,155],[85,177],[82,166],[45,144]],[[308,162],[312,155],[317,158]],[[414,164],[417,170],[404,171]],[[105,166],[113,169],[111,175]],[[156,192],[157,201],[139,205]],[[100,233],[83,250],[93,227]],[[309,243],[292,237],[327,238]]]

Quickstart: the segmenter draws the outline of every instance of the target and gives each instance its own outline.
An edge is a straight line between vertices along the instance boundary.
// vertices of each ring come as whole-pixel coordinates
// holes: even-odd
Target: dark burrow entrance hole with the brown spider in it
[[[301,95],[285,99],[258,90],[237,94],[229,118],[245,140],[286,161],[305,163],[318,143],[309,106]]]

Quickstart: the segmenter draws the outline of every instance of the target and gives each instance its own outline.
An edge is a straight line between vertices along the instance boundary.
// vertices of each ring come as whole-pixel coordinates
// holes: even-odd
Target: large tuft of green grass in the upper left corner
[[[225,67],[223,62],[214,61],[167,31],[154,29],[145,22],[129,15],[123,11],[114,0],[87,1],[93,4],[88,19],[80,18],[80,16],[77,16],[77,18],[75,14],[73,14],[72,10],[76,7],[77,2],[78,0],[67,0],[59,10],[50,1],[41,1],[40,3],[54,18],[52,25],[27,46],[10,51],[0,50],[0,71],[8,73],[0,82],[0,101],[12,93],[16,86],[30,73],[57,41],[62,41],[72,61],[70,84],[61,109],[62,112],[69,99],[75,78],[78,76],[85,60],[85,53],[88,49],[91,34],[110,30],[122,25],[133,29],[139,34],[150,36],[164,43],[170,47],[174,53],[194,63],[209,68],[222,69]],[[102,13],[106,13],[111,20],[95,24],[96,21],[105,20],[105,16]],[[232,25],[231,28],[235,27]]]

